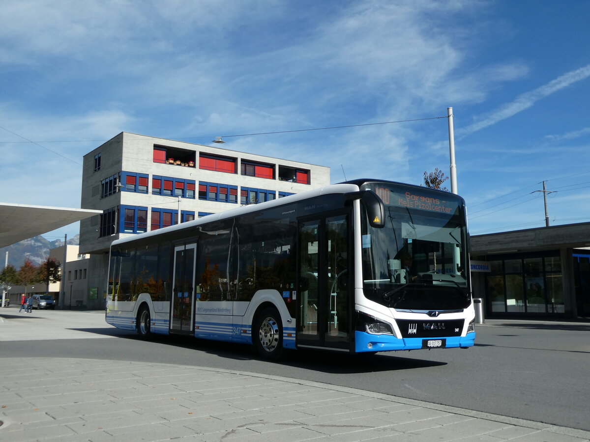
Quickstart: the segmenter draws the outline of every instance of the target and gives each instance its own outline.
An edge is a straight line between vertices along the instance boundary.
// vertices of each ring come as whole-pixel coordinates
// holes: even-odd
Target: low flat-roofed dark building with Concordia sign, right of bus
[[[487,318],[588,318],[590,223],[472,236],[471,282]]]

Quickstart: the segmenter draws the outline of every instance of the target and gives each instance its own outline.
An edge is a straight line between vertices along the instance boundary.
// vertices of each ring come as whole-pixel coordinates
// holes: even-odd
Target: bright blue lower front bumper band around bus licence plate
[[[422,348],[424,339],[445,339],[445,348],[473,347],[473,341],[476,338],[474,332],[468,333],[467,336],[450,336],[440,338],[401,338],[398,339],[391,335],[373,335],[367,332],[355,332],[355,349],[362,351],[391,351],[391,350],[416,350]],[[369,344],[371,346],[369,347]]]

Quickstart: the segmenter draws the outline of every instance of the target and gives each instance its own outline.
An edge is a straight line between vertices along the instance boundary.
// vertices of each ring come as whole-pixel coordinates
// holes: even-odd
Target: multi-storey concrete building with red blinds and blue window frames
[[[80,223],[84,305],[104,306],[115,239],[327,184],[329,167],[122,132],[84,156],[81,207],[103,211]]]

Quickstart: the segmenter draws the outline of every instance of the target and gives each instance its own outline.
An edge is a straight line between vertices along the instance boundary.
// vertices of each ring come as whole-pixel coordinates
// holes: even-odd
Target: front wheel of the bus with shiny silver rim
[[[263,359],[275,361],[283,352],[283,325],[277,309],[266,308],[254,319],[252,339]]]

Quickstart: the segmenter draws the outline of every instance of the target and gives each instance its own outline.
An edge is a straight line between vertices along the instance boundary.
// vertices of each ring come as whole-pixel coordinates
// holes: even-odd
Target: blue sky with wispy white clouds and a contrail
[[[472,235],[545,225],[543,180],[551,225],[587,222],[589,17],[587,0],[4,0],[0,201],[80,207],[83,155],[121,131],[421,184],[450,174],[434,117],[453,107]],[[355,127],[230,137],[334,126]]]

